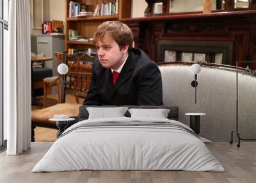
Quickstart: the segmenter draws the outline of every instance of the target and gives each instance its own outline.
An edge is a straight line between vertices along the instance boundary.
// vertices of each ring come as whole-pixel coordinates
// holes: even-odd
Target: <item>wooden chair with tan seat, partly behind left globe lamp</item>
[[[63,61],[63,53],[62,52],[54,52],[56,57],[57,65],[60,65],[61,60]],[[61,102],[61,77],[60,76],[52,76],[52,77],[45,77],[43,79],[44,82],[44,108],[46,106],[46,98],[47,98],[47,91],[52,86],[58,85],[58,102]]]

